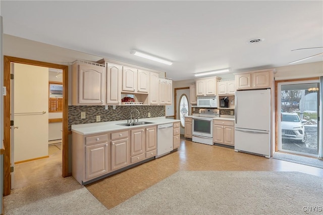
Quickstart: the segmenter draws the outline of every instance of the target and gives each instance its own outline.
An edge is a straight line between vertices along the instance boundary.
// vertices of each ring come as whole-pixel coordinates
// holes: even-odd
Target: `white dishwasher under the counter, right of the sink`
[[[157,156],[173,151],[173,123],[157,125]]]

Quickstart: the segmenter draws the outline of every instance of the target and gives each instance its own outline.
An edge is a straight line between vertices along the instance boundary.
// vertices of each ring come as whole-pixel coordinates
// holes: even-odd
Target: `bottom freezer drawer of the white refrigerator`
[[[271,157],[271,132],[235,128],[234,149]]]

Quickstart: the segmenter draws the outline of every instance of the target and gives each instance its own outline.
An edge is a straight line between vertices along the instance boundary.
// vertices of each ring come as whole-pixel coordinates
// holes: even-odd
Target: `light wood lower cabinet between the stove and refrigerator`
[[[234,121],[214,119],[213,142],[234,146]]]

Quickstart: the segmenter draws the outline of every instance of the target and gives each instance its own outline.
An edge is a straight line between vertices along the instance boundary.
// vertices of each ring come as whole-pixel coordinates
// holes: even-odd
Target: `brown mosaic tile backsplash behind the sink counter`
[[[101,122],[130,119],[132,109],[139,110],[140,118],[148,118],[148,113],[150,113],[150,117],[166,116],[165,105],[117,105],[115,110],[111,105],[108,106],[107,110],[104,109],[104,106],[69,106],[68,128],[71,130],[73,124],[96,122],[96,115],[101,116]],[[81,119],[81,112],[85,112],[86,119]],[[133,113],[133,116],[138,116],[137,111],[133,111]]]

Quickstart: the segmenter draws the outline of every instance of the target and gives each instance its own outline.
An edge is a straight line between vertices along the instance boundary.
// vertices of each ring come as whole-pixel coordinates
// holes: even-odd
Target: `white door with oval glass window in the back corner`
[[[186,109],[187,109],[187,113],[186,115],[190,115],[191,111],[190,111],[190,105],[189,103],[189,99],[190,99],[190,89],[181,89],[181,90],[176,90],[176,110],[175,110],[175,118],[176,119],[181,119],[181,134],[185,134],[185,120],[182,117],[181,118],[181,110],[183,109],[183,104],[181,104],[181,98],[185,95],[187,97],[187,102],[186,103]],[[185,112],[185,110],[184,110]],[[182,111],[183,113],[183,111]]]

